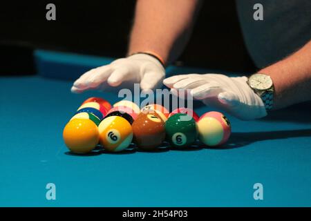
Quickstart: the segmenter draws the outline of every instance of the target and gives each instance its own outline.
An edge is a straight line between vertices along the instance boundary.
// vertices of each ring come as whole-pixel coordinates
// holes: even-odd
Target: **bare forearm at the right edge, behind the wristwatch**
[[[311,41],[260,72],[270,75],[274,82],[274,109],[311,100]]]

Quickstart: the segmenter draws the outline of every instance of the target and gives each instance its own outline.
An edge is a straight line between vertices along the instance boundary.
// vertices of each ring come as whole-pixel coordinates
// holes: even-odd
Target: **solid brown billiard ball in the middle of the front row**
[[[164,122],[156,113],[140,113],[132,127],[134,142],[143,150],[155,150],[165,139]]]

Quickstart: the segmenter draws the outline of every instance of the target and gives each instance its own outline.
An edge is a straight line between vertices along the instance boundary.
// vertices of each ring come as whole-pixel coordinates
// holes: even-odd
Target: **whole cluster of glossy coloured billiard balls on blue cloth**
[[[211,111],[199,117],[189,108],[169,113],[159,104],[140,109],[122,100],[111,106],[100,97],[86,99],[66,124],[63,137],[70,151],[90,153],[98,145],[119,152],[135,144],[144,151],[154,151],[163,142],[172,148],[189,148],[197,140],[202,145],[220,146],[231,134],[229,119]]]

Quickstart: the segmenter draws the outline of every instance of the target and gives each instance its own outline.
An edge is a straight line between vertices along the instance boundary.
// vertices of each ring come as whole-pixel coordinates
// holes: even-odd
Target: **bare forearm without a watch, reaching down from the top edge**
[[[165,63],[180,55],[194,23],[199,0],[138,0],[128,54],[156,52]]]

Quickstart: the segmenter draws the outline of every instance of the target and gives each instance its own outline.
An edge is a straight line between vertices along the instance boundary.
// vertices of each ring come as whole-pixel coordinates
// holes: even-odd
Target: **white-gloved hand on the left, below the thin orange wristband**
[[[82,93],[90,89],[104,90],[105,83],[108,86],[119,86],[124,81],[140,83],[142,91],[152,90],[162,85],[164,76],[165,70],[160,61],[150,55],[136,54],[89,70],[75,81],[71,91]]]

